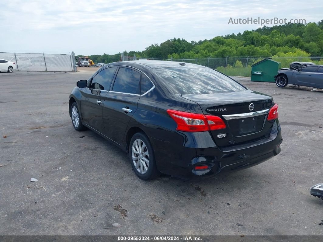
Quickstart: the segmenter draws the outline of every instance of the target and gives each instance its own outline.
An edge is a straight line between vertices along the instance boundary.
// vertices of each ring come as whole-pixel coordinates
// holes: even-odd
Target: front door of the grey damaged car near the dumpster
[[[300,85],[300,86],[313,86],[315,85],[315,73],[318,69],[316,65],[309,65],[303,67],[297,71],[293,72],[293,84]]]

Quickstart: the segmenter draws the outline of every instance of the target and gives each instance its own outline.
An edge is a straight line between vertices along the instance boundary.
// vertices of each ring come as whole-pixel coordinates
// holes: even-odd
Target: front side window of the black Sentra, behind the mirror
[[[110,67],[101,70],[92,78],[89,88],[108,91],[110,89],[110,85],[116,69],[116,67]]]

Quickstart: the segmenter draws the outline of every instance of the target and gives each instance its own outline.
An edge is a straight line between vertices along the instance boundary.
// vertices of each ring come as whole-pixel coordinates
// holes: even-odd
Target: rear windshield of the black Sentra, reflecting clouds
[[[245,91],[246,88],[210,68],[159,68],[153,70],[171,92],[212,94]]]

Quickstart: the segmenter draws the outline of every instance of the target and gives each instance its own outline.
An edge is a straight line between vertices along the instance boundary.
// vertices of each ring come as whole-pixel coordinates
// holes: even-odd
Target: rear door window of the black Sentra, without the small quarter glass
[[[140,72],[120,67],[112,91],[140,94]]]

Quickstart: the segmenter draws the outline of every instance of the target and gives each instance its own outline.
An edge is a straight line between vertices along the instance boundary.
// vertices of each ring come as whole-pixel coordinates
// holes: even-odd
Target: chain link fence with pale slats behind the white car
[[[74,52],[70,55],[0,52],[0,59],[14,62],[19,71],[76,71]]]

